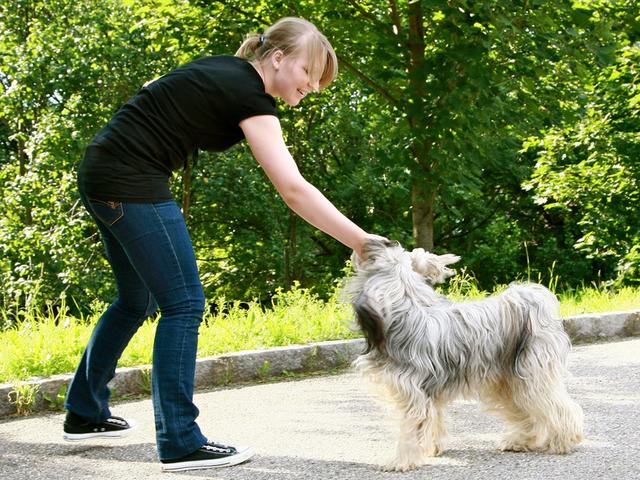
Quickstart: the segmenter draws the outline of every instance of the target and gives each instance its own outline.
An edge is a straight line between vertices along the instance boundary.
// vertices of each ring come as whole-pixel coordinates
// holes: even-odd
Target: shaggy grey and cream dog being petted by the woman
[[[457,397],[504,418],[503,450],[570,452],[582,440],[583,415],[563,383],[571,344],[556,297],[529,283],[453,302],[433,285],[458,260],[387,241],[353,257],[346,292],[367,340],[354,365],[400,413],[385,469],[409,470],[442,453],[444,409]]]

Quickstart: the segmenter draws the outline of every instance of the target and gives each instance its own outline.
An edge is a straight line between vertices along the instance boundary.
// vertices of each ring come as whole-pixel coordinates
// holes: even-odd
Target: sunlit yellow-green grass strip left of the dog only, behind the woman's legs
[[[216,307],[200,326],[199,357],[356,336],[350,328],[348,305],[335,295],[323,301],[297,284],[288,291],[278,290],[268,308],[222,298]],[[76,317],[67,309],[34,312],[0,331],[0,383],[73,372],[104,305],[94,308],[87,318]],[[120,366],[151,364],[156,326],[156,319],[149,319],[140,327],[122,354]]]

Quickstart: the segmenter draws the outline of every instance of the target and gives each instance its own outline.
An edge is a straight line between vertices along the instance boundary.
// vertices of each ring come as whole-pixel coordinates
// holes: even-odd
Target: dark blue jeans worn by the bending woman
[[[65,407],[94,423],[111,415],[107,383],[131,337],[159,308],[151,374],[158,455],[161,460],[188,455],[207,441],[193,404],[204,292],[182,212],[174,200],[81,198],[102,234],[118,298],[93,331]]]

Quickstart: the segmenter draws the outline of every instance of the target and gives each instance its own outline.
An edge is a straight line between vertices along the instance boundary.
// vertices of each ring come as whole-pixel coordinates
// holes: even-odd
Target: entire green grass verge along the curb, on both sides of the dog
[[[454,298],[479,298],[472,278],[459,275],[452,279],[447,294]],[[640,308],[640,289],[616,291],[584,288],[559,294],[563,316],[587,312],[623,311]],[[272,308],[257,303],[241,308],[238,302],[224,303],[218,315],[208,314],[200,327],[198,356],[205,357],[240,350],[338,340],[359,336],[351,330],[348,305],[337,298],[319,300],[308,290],[294,287],[279,292]],[[86,346],[98,314],[106,305],[95,304],[96,314],[74,318],[62,301],[57,313],[49,309],[0,312],[0,318],[18,319],[0,332],[0,382],[18,382],[31,377],[48,377],[72,372]],[[119,366],[151,363],[153,337],[157,322],[145,322],[122,355]]]

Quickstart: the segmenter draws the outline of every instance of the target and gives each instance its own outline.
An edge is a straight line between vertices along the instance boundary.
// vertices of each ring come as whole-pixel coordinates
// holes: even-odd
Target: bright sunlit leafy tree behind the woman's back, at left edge
[[[79,202],[76,167],[111,114],[178,62],[157,34],[164,24],[149,35],[151,19],[133,6],[0,4],[0,275],[7,303],[65,292],[83,303],[112,289],[97,231]]]

